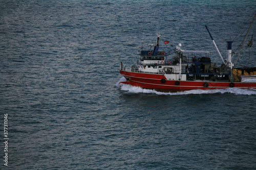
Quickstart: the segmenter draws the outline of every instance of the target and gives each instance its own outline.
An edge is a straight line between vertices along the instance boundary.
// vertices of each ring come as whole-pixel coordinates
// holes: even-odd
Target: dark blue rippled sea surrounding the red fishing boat
[[[139,47],[157,34],[163,51],[181,43],[221,64],[204,26],[226,57],[226,41],[238,52],[255,6],[0,1],[0,169],[256,169],[256,90],[164,93],[118,84],[120,62],[137,63]],[[254,23],[236,66],[256,67],[255,34]]]

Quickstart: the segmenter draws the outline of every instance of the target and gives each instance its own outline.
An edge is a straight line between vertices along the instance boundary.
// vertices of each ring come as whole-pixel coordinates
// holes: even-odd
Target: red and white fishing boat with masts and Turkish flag
[[[243,45],[255,17],[256,13],[250,23]],[[120,83],[157,91],[256,89],[256,67],[235,67],[241,51],[235,58],[236,60],[234,59],[232,62],[234,56],[232,41],[227,41],[227,57],[224,60],[208,27],[205,26],[205,28],[222,59],[223,63],[220,66],[211,61],[208,51],[182,50],[181,44],[168,52],[161,51],[159,49],[160,35],[157,35],[156,44],[149,44],[148,50],[141,49],[137,64],[127,67],[121,62],[119,72],[126,81]]]

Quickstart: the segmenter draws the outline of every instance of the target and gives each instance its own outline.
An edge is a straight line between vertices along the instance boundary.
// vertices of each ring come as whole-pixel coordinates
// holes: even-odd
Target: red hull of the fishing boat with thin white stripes
[[[159,89],[164,91],[184,91],[193,89],[223,89],[223,88],[256,88],[256,83],[251,82],[209,82],[209,81],[178,81],[166,80],[164,75],[145,74],[141,72],[130,72],[120,70],[120,74],[125,77],[124,84],[138,86],[148,89]],[[162,79],[165,81],[161,82]],[[231,83],[231,84],[230,84]],[[207,86],[207,87],[206,87]]]

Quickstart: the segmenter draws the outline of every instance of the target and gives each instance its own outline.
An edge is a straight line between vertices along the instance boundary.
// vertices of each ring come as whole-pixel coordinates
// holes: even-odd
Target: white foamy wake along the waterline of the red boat
[[[215,93],[230,93],[236,95],[256,95],[255,89],[241,89],[241,88],[226,88],[226,89],[214,89],[214,90],[187,90],[187,91],[179,91],[179,92],[160,92],[153,89],[143,89],[141,87],[135,87],[129,84],[123,84],[120,82],[125,82],[125,78],[121,78],[116,86],[119,87],[123,91],[131,92],[131,93],[155,93],[160,95],[187,95],[187,94],[215,94]],[[120,83],[120,84],[119,84]]]

